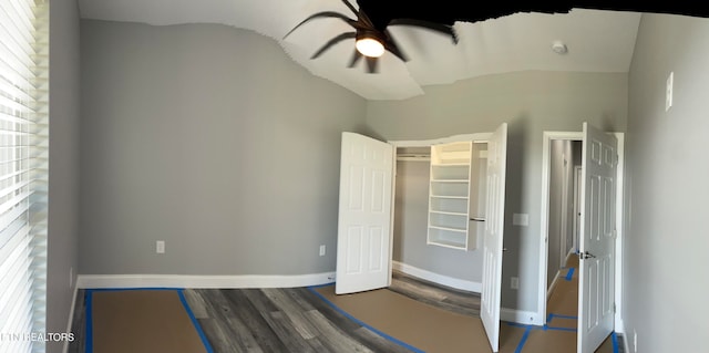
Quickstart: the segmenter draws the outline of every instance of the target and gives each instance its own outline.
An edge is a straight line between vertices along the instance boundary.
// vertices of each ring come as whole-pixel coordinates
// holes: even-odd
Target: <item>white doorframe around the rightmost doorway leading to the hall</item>
[[[615,273],[615,332],[625,333],[623,324],[621,299],[623,299],[623,238],[625,235],[624,221],[624,186],[625,186],[625,134],[613,133],[618,141],[618,165],[617,165],[617,187],[616,187],[616,273]],[[542,206],[541,206],[541,231],[540,231],[540,282],[537,293],[537,316],[542,318],[542,323],[546,324],[546,281],[548,267],[548,231],[549,231],[549,174],[551,174],[551,144],[552,141],[583,141],[583,132],[543,132],[542,137]]]

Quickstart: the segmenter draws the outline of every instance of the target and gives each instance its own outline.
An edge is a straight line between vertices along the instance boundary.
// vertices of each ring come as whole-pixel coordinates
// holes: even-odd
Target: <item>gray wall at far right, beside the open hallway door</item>
[[[629,73],[623,318],[638,352],[706,351],[709,20],[644,14]],[[665,83],[675,74],[674,106]]]

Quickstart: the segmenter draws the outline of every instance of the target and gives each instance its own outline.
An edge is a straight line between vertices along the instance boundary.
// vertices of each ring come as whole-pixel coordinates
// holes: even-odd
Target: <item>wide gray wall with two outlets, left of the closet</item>
[[[335,270],[361,97],[226,25],[84,20],[81,60],[81,273]]]

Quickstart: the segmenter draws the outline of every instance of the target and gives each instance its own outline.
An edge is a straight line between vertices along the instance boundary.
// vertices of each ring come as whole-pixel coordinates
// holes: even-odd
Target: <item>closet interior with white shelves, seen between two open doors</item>
[[[487,144],[471,149],[469,163],[442,166],[430,145],[397,146],[392,267],[480,293]]]

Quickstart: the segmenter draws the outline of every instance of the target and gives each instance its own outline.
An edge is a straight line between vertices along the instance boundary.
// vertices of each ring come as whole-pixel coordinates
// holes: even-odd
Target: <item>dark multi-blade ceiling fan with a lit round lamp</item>
[[[349,24],[354,29],[352,32],[341,33],[331,40],[329,40],[325,45],[322,45],[310,59],[317,59],[325,51],[330,49],[332,45],[349,39],[354,39],[354,51],[352,53],[352,58],[350,59],[348,68],[353,68],[360,59],[364,58],[367,61],[368,73],[376,73],[378,66],[378,60],[381,55],[384,54],[386,51],[389,51],[394,56],[401,59],[402,61],[408,61],[409,59],[403,54],[399,45],[394,42],[391,33],[387,28],[380,29],[374,25],[372,20],[364,13],[362,7],[359,7],[357,10],[348,0],[341,0],[348,9],[350,9],[354,14],[357,14],[357,20],[352,20],[349,17],[335,11],[322,11],[315,14],[309,15],[302,22],[298,23],[292,30],[290,30],[284,39],[292,33],[296,29],[305,24],[306,22],[320,19],[320,18],[335,18],[345,21],[345,23]],[[448,35],[451,35],[453,43],[458,43],[458,37],[453,31],[452,25],[429,22],[417,19],[392,19],[389,21],[388,25],[414,25],[424,28],[428,30],[441,32]]]

